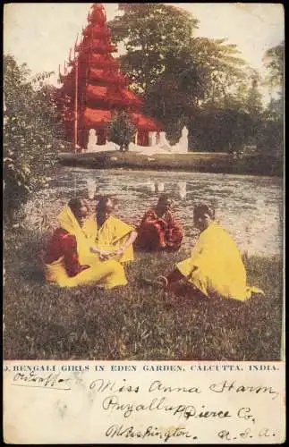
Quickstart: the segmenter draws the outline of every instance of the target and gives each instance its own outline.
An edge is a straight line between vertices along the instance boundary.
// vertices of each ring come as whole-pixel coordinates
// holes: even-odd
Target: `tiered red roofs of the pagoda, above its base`
[[[119,69],[119,62],[112,55],[116,51],[111,43],[110,30],[102,4],[93,4],[88,15],[88,25],[82,30],[81,42],[75,43],[71,70],[59,73],[66,97],[75,98],[77,90],[78,115],[81,128],[98,128],[110,122],[115,111],[126,110],[138,129],[161,130],[160,123],[140,114],[142,99],[132,93],[129,80]],[[71,104],[73,101],[71,100]],[[67,104],[67,102],[66,102]],[[71,116],[72,114],[67,114]]]

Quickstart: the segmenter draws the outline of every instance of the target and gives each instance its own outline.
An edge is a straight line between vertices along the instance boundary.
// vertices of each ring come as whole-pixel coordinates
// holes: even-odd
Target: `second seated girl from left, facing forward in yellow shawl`
[[[138,233],[132,225],[113,215],[113,199],[105,196],[98,200],[96,214],[87,219],[84,231],[94,244],[91,252],[101,259],[113,258],[120,263],[133,260],[132,244]]]

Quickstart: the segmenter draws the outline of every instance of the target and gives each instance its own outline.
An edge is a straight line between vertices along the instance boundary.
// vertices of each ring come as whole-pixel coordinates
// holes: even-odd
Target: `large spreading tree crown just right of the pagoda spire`
[[[108,23],[122,42],[123,71],[144,93],[164,77],[181,75],[180,84],[214,97],[243,75],[244,61],[225,39],[195,38],[198,21],[168,4],[119,4],[123,15]]]

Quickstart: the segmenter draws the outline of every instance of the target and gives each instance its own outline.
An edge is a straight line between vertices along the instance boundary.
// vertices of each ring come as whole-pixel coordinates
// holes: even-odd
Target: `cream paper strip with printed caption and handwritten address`
[[[285,442],[283,362],[5,362],[4,369],[6,443]]]

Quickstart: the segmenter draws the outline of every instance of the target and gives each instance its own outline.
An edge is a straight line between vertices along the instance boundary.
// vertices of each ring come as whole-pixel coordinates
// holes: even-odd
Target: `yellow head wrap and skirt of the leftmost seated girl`
[[[60,257],[51,264],[45,265],[47,282],[57,283],[62,287],[98,283],[106,289],[127,284],[123,266],[120,263],[113,259],[102,262],[99,261],[98,256],[90,253],[90,240],[75,219],[70,207],[64,207],[57,219],[61,228],[75,236],[80,264],[90,267],[75,276],[69,276],[64,266],[64,256]],[[87,260],[89,262],[86,262]]]

